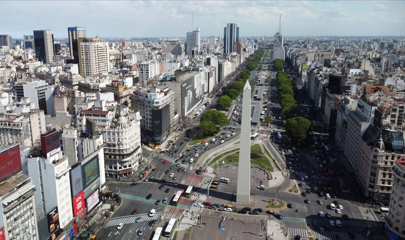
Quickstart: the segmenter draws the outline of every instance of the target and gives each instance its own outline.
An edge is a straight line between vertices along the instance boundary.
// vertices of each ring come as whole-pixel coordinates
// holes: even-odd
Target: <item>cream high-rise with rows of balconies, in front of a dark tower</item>
[[[93,74],[108,73],[109,48],[108,43],[101,42],[100,37],[80,38],[77,41],[79,46],[79,73],[83,77]]]

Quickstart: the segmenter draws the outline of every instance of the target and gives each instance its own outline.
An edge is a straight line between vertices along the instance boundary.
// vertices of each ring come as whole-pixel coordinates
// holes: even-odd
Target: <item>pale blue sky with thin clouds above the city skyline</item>
[[[240,36],[272,36],[281,14],[285,36],[403,36],[404,10],[405,1],[2,1],[0,34],[61,38],[82,26],[88,37],[185,37],[200,27],[207,37],[235,22]]]

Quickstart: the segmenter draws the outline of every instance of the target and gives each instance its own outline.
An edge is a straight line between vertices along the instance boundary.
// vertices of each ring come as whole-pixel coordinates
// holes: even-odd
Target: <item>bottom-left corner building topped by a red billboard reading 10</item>
[[[39,239],[32,180],[21,172],[18,143],[0,148],[0,239]],[[11,163],[11,164],[10,164]]]

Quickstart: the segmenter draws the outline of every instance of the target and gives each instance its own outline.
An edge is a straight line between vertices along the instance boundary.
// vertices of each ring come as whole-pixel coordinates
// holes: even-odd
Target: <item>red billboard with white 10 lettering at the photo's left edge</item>
[[[0,181],[21,171],[20,146],[18,143],[0,148]]]

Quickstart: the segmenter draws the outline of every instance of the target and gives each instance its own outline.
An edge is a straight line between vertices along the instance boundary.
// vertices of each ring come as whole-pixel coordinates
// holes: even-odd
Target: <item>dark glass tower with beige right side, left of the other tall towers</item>
[[[43,63],[53,62],[54,58],[54,33],[47,30],[34,30],[35,56]]]

